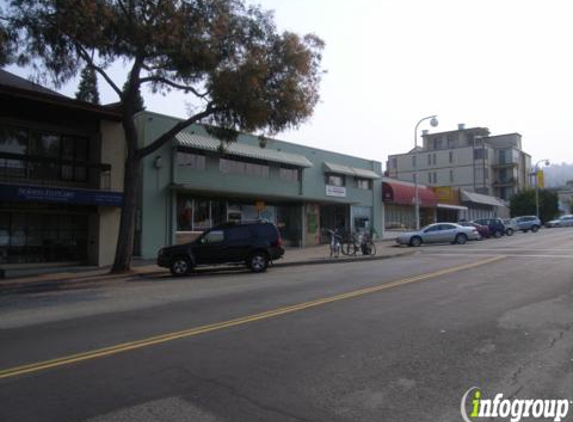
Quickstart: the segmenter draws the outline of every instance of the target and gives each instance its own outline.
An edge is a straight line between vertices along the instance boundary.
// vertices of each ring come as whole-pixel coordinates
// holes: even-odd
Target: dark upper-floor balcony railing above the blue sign
[[[109,190],[111,165],[0,152],[0,182]]]

